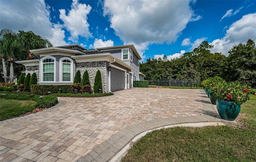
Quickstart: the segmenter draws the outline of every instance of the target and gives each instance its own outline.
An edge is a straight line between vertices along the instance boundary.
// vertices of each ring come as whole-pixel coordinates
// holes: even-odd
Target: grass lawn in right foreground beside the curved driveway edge
[[[207,126],[155,130],[128,150],[122,162],[256,161],[256,96],[242,105],[246,128]]]

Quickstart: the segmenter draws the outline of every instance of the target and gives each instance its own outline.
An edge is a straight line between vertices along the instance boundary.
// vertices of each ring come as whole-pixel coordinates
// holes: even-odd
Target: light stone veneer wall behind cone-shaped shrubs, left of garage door
[[[76,63],[76,71],[78,70],[80,70],[81,72],[81,77],[83,77],[84,72],[86,70],[88,71],[92,90],[93,90],[96,72],[100,70],[101,79],[102,79],[102,90],[103,92],[106,92],[106,61],[79,62],[79,63]]]

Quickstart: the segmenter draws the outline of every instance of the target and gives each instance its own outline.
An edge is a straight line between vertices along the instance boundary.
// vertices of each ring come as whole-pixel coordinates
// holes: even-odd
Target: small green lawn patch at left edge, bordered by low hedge
[[[19,116],[35,108],[36,101],[0,98],[0,121]]]

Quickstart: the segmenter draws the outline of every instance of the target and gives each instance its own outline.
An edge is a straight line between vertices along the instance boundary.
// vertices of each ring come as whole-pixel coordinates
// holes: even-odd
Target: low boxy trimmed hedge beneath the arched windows
[[[38,85],[33,84],[31,85],[31,93],[32,94],[40,94],[40,95],[47,95],[47,92],[52,93],[71,93],[72,88],[70,85]],[[61,90],[59,90],[61,89]]]

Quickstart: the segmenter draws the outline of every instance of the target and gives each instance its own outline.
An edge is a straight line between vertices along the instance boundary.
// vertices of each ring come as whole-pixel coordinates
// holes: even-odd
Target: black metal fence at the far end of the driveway
[[[148,84],[158,88],[203,89],[201,82],[194,80],[148,80]]]

